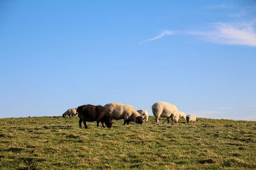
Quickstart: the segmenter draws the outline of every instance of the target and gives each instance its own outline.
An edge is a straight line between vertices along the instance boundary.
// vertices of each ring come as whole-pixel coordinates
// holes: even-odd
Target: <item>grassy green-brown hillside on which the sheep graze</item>
[[[255,169],[256,122],[79,128],[78,118],[0,119],[0,169]]]

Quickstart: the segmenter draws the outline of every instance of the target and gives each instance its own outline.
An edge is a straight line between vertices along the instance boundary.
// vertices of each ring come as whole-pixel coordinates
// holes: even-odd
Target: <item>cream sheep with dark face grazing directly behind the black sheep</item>
[[[109,103],[104,106],[110,115],[115,120],[124,119],[124,125],[129,125],[129,122],[135,122],[136,124],[142,124],[143,118],[134,108],[127,104],[122,103]]]

